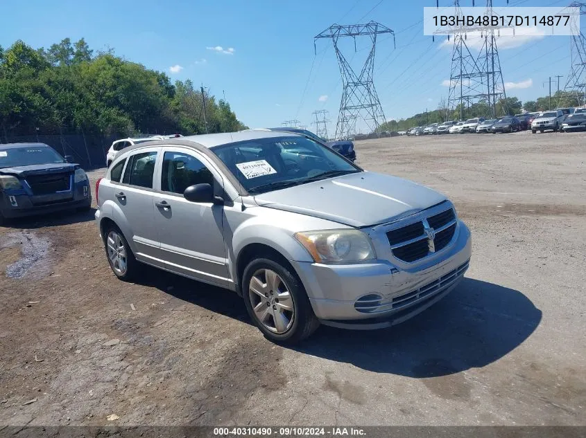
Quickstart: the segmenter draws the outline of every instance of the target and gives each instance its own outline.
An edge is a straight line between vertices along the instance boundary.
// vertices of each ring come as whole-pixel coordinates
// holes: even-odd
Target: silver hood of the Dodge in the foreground
[[[255,196],[259,206],[354,227],[406,217],[445,200],[444,195],[423,185],[374,172],[338,176]]]

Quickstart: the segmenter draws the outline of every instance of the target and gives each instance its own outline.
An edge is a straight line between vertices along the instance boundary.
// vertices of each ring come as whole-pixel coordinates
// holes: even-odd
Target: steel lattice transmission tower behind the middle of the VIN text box
[[[436,3],[437,5],[437,3]],[[454,0],[456,17],[462,16],[460,1]],[[487,15],[493,15],[492,0],[486,1]],[[496,118],[499,109],[508,113],[505,84],[497,48],[497,36],[501,28],[508,26],[456,26],[449,30],[439,30],[435,35],[454,35],[454,49],[451,54],[451,73],[449,77],[448,111],[458,109],[460,120],[465,120],[466,111],[472,105],[485,107],[483,116]],[[467,41],[467,33],[480,33],[483,40],[477,55],[472,54]],[[498,35],[498,34],[497,34]],[[449,116],[448,114],[446,115]]]

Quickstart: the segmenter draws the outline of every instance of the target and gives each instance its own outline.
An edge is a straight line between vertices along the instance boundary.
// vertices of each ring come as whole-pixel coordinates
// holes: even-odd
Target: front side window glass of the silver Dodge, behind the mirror
[[[194,156],[182,152],[165,152],[161,172],[161,190],[183,194],[190,185],[207,183],[214,186],[214,176]]]

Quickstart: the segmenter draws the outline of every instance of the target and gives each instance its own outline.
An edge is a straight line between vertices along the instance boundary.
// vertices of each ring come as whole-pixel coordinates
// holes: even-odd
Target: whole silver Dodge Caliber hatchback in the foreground
[[[316,140],[241,131],[124,149],[96,183],[121,280],[148,264],[235,291],[270,340],[378,329],[462,279],[470,232],[442,194],[366,172]]]

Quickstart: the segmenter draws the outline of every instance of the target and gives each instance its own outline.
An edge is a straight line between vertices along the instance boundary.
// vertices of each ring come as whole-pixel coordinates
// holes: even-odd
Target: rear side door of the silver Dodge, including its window
[[[132,246],[135,257],[164,267],[154,222],[153,181],[160,149],[148,147],[128,156],[122,180],[114,186],[113,201],[120,216],[115,220]]]

